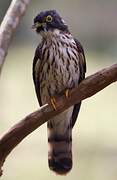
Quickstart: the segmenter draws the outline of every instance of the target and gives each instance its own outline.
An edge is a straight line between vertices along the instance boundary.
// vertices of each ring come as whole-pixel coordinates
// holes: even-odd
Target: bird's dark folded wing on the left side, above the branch
[[[38,46],[35,51],[35,56],[33,59],[33,81],[34,81],[34,85],[35,85],[37,99],[39,101],[40,106],[42,106],[41,95],[40,95],[40,82],[39,82],[40,61],[41,61],[41,47]]]

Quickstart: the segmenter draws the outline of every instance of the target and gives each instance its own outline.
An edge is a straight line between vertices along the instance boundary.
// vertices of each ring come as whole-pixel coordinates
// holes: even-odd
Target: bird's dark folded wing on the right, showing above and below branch
[[[84,55],[84,50],[82,45],[80,44],[80,42],[77,39],[74,39],[75,43],[77,45],[77,49],[78,49],[78,56],[79,56],[79,68],[80,68],[80,77],[79,77],[79,83],[85,78],[85,72],[86,72],[86,59],[85,59],[85,55]],[[79,110],[80,110],[80,106],[81,106],[81,102],[78,104],[74,105],[74,109],[73,109],[73,113],[72,113],[72,117],[71,117],[71,123],[72,123],[72,127],[74,126]]]

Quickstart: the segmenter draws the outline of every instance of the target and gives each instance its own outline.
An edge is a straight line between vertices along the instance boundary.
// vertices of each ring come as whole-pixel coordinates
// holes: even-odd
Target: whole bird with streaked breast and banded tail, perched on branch
[[[39,105],[51,101],[56,111],[56,95],[69,98],[69,91],[85,78],[86,60],[81,43],[70,33],[66,21],[56,10],[42,11],[33,20],[32,29],[41,36],[33,59],[33,80]],[[48,165],[58,175],[66,175],[73,166],[72,129],[81,102],[47,122]]]

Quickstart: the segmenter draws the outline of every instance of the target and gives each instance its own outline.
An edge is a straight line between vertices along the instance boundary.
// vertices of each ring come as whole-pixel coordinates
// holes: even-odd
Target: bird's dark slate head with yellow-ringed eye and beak
[[[68,31],[68,26],[65,21],[55,10],[40,12],[34,18],[32,28],[42,35],[47,34],[48,32],[53,32],[56,29],[60,31]]]

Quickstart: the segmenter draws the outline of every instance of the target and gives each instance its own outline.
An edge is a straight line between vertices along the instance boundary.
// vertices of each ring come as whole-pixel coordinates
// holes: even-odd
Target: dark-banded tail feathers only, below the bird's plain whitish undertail
[[[57,174],[65,175],[72,168],[72,127],[59,134],[58,126],[50,127],[48,122],[48,164]],[[58,130],[58,131],[57,131]]]

